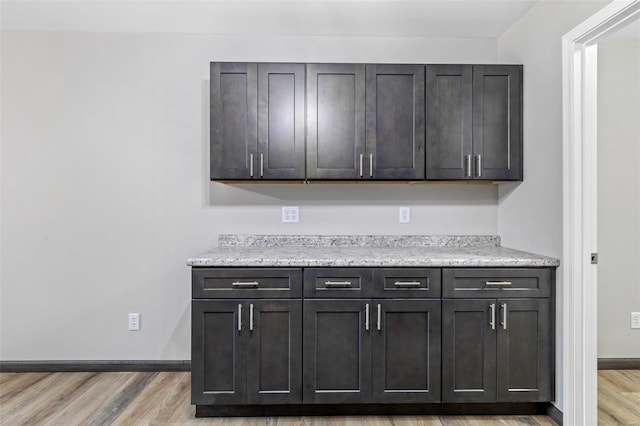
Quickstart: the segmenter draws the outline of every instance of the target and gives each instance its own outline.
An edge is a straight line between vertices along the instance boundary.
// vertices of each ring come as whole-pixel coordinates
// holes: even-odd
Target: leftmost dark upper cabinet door
[[[211,179],[251,179],[257,162],[257,67],[211,63]]]

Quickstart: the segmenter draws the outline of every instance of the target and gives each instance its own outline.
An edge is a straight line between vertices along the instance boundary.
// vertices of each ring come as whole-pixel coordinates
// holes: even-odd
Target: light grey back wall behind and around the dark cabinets
[[[494,186],[207,176],[209,61],[492,63],[495,39],[7,31],[1,43],[2,360],[188,359],[185,260],[220,233],[497,232]],[[292,204],[301,223],[279,223]]]

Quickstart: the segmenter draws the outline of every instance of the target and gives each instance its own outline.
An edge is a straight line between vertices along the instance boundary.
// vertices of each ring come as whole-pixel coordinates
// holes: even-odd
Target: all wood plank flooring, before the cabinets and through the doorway
[[[601,425],[640,426],[640,370],[598,373]],[[489,426],[555,425],[546,416],[194,418],[190,375],[1,373],[2,425]]]

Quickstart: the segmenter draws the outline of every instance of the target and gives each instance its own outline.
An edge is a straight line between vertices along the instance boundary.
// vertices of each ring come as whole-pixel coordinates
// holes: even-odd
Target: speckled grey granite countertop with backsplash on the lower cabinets
[[[497,235],[220,235],[199,266],[548,267],[558,259],[500,245]]]

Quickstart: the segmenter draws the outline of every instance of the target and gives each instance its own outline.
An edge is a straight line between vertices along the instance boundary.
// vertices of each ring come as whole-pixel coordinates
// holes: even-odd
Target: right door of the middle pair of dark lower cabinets
[[[440,299],[374,300],[372,313],[372,402],[440,402]]]

